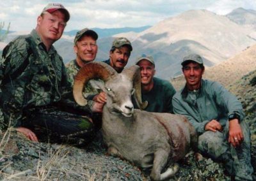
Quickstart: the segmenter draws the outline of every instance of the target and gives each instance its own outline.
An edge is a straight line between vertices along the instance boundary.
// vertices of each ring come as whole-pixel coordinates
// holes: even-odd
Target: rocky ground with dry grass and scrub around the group
[[[256,180],[256,71],[228,87],[241,100],[252,130],[253,178]],[[0,134],[0,180],[149,180],[147,175],[122,159],[106,154],[98,134],[88,147],[35,143],[14,131]],[[190,152],[179,162],[170,180],[230,180],[223,165]]]

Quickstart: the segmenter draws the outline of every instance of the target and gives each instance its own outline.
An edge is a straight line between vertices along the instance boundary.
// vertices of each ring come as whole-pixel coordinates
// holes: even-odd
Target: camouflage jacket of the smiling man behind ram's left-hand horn
[[[77,64],[75,59],[73,61],[68,62],[68,64],[66,64],[66,68],[67,68],[68,81],[73,85],[74,77],[77,75],[77,72],[79,71],[80,66]],[[84,95],[84,98],[88,100],[92,100],[93,97],[99,93],[100,93],[100,90],[94,89],[90,82],[86,83],[86,85],[84,86],[83,95]]]

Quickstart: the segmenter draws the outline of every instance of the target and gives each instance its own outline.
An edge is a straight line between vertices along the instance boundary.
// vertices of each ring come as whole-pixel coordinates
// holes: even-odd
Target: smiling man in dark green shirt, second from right
[[[136,65],[140,66],[141,98],[147,101],[147,112],[173,113],[172,97],[175,89],[167,80],[155,77],[156,69],[153,57],[141,55],[137,58]],[[134,107],[138,108],[133,101]]]

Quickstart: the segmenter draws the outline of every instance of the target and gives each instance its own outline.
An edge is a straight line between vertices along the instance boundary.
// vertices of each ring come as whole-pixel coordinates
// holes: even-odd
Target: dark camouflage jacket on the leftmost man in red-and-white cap
[[[20,126],[24,110],[58,104],[72,93],[62,58],[53,46],[47,52],[35,30],[4,48],[0,69],[1,108],[11,126]],[[74,101],[67,104],[79,107]]]

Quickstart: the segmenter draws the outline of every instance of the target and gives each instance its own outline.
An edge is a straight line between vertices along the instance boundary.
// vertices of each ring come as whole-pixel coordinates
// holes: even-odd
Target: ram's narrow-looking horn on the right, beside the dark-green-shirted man
[[[140,67],[137,65],[131,66],[130,68],[125,68],[122,73],[127,75],[127,77],[133,82],[133,87],[135,89],[134,98],[136,104],[140,108],[140,110],[144,110],[148,102],[142,102],[141,99],[141,77],[140,77]]]

